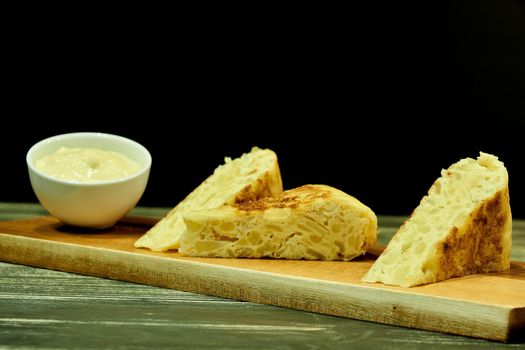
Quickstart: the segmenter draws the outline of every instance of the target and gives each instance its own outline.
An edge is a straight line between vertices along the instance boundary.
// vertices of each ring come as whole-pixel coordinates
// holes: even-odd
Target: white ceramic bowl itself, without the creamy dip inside
[[[141,169],[124,178],[109,181],[74,182],[42,173],[35,162],[60,147],[89,147],[115,151],[135,160]],[[78,132],[36,143],[26,156],[31,186],[49,213],[68,225],[106,228],[135,207],[146,189],[151,155],[139,143],[122,136]]]

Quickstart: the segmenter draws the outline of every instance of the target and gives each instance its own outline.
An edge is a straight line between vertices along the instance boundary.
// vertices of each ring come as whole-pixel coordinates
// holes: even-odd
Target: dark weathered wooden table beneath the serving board
[[[158,217],[167,208],[136,208]],[[0,203],[0,220],[46,212]],[[386,243],[403,218],[380,217]],[[514,220],[513,260],[525,260]],[[524,291],[525,293],[525,291]],[[479,339],[0,263],[0,349],[498,349]]]

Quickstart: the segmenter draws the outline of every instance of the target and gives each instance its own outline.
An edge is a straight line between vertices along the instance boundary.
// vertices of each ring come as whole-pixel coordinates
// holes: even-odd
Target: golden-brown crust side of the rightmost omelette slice
[[[470,214],[464,232],[452,227],[438,245],[437,280],[510,268],[511,212],[508,189]]]

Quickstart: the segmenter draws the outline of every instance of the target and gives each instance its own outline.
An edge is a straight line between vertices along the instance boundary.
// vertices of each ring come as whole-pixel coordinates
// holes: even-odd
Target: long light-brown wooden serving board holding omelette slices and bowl
[[[374,261],[186,258],[133,247],[152,224],[83,231],[0,222],[0,260],[404,327],[511,341],[525,333],[525,263],[414,288],[361,283]]]

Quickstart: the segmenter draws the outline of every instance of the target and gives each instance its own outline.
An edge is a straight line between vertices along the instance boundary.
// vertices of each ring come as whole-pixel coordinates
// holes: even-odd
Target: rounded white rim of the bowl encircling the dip
[[[137,171],[136,173],[133,173],[131,175],[128,175],[128,176],[125,176],[125,177],[120,177],[120,178],[117,178],[117,179],[112,179],[112,180],[94,180],[94,181],[75,181],[75,180],[60,179],[60,178],[57,178],[57,177],[54,177],[54,176],[50,176],[50,175],[47,175],[47,174],[43,173],[42,171],[40,171],[33,164],[34,162],[31,159],[32,154],[39,147],[42,147],[44,144],[47,144],[47,143],[50,143],[50,142],[54,142],[57,139],[74,139],[76,137],[83,137],[83,136],[90,136],[90,137],[95,137],[95,138],[96,137],[105,137],[105,138],[111,138],[111,139],[114,139],[114,140],[118,140],[119,142],[131,143],[135,147],[140,149],[146,155],[146,161],[144,162],[144,164],[142,164],[142,167],[140,168],[139,171]],[[96,148],[96,147],[94,147],[94,148]],[[27,151],[27,153],[26,153],[26,163],[27,163],[28,168],[32,172],[38,174],[39,176],[42,176],[42,177],[46,178],[47,180],[50,180],[50,181],[54,181],[54,182],[58,182],[58,183],[62,183],[62,184],[67,184],[67,185],[81,186],[81,187],[111,185],[111,184],[117,184],[117,183],[121,183],[121,182],[126,182],[126,181],[129,181],[129,180],[141,177],[141,176],[144,175],[144,173],[150,171],[151,162],[152,162],[152,157],[151,157],[151,154],[149,153],[148,149],[146,147],[144,147],[143,145],[141,145],[140,143],[138,143],[137,141],[132,140],[132,139],[130,139],[128,137],[124,137],[124,136],[120,136],[120,135],[116,135],[116,134],[111,134],[111,133],[105,133],[105,132],[82,131],[82,132],[70,132],[70,133],[64,133],[64,134],[50,136],[50,137],[42,139],[42,140],[38,141],[37,143],[33,144],[33,146],[31,146],[29,148],[29,150]]]

